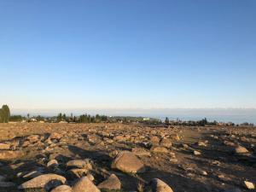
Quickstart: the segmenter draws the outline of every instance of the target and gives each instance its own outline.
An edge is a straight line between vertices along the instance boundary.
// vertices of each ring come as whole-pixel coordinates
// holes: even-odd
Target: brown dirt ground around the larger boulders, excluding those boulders
[[[49,143],[47,138],[51,133],[60,137]],[[32,141],[30,136],[34,135],[38,140]],[[172,141],[172,146],[163,147],[160,141],[164,138]],[[256,183],[255,128],[17,123],[0,124],[0,143],[9,145],[9,149],[0,150],[0,156],[6,150],[19,151],[19,154],[0,157],[0,175],[16,186],[28,180],[20,175],[35,170],[55,172],[67,177],[72,185],[73,179],[69,179],[65,164],[68,160],[89,158],[93,162],[90,173],[95,177],[95,184],[114,173],[123,191],[138,191],[138,184],[146,184],[154,177],[166,182],[174,192],[255,191],[244,185],[244,181]],[[154,146],[167,151],[154,151]],[[248,152],[236,154],[237,146],[247,148]],[[111,168],[116,154],[134,148],[147,152],[138,155],[146,172],[127,174]],[[47,162],[54,159],[60,166],[47,167]],[[12,186],[0,191],[19,190]]]

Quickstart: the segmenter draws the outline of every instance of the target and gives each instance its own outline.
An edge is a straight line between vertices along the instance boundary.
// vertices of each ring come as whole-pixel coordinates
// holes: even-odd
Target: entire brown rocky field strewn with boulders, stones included
[[[255,191],[256,129],[1,124],[0,191]]]

